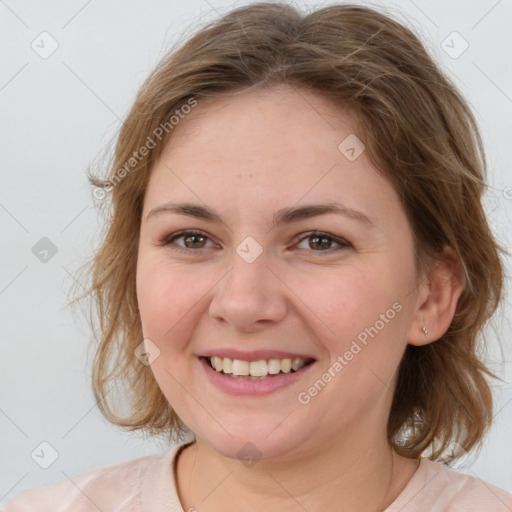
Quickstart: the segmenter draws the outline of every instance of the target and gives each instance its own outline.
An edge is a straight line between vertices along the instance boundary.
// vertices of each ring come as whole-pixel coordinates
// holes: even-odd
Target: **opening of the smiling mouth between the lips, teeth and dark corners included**
[[[229,357],[200,357],[216,373],[234,380],[269,380],[304,371],[315,362],[312,358],[260,359],[245,361]]]

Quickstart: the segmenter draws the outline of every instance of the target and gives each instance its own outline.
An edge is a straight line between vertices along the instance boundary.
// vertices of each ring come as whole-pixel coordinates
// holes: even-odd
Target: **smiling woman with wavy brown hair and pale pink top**
[[[409,29],[236,9],[160,63],[91,181],[112,213],[88,268],[98,407],[176,445],[6,511],[512,509],[446,467],[491,425],[503,249],[474,117]]]

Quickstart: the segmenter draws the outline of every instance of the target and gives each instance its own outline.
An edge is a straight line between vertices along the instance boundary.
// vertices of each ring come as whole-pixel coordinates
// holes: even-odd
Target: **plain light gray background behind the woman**
[[[23,489],[167,449],[102,418],[89,385],[91,334],[64,308],[102,221],[85,171],[177,36],[194,21],[199,25],[246,3],[0,0],[0,505]],[[512,2],[374,5],[403,13],[477,112],[491,174],[486,207],[509,248]],[[42,47],[43,31],[59,45],[46,59],[31,48],[32,41]],[[455,54],[465,43],[454,31],[469,44],[460,56]],[[43,237],[58,249],[46,263],[32,252]],[[507,265],[510,274],[509,260]],[[502,356],[498,337],[507,360],[493,365],[505,380],[495,391],[495,426],[480,457],[461,471],[512,492],[510,295],[507,300],[491,335],[494,361]],[[48,469],[31,458],[43,441],[59,455]]]

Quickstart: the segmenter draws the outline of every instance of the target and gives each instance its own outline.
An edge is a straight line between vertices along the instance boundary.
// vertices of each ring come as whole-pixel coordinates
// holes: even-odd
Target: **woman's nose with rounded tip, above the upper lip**
[[[257,332],[282,320],[287,312],[287,288],[264,253],[248,263],[236,252],[232,267],[214,290],[209,314],[243,332]]]

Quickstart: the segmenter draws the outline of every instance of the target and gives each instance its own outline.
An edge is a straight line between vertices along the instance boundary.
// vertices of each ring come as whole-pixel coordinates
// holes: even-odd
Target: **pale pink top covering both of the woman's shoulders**
[[[3,512],[185,512],[176,492],[175,461],[185,440],[150,455],[22,491]],[[512,494],[421,459],[416,473],[384,512],[511,512]]]

